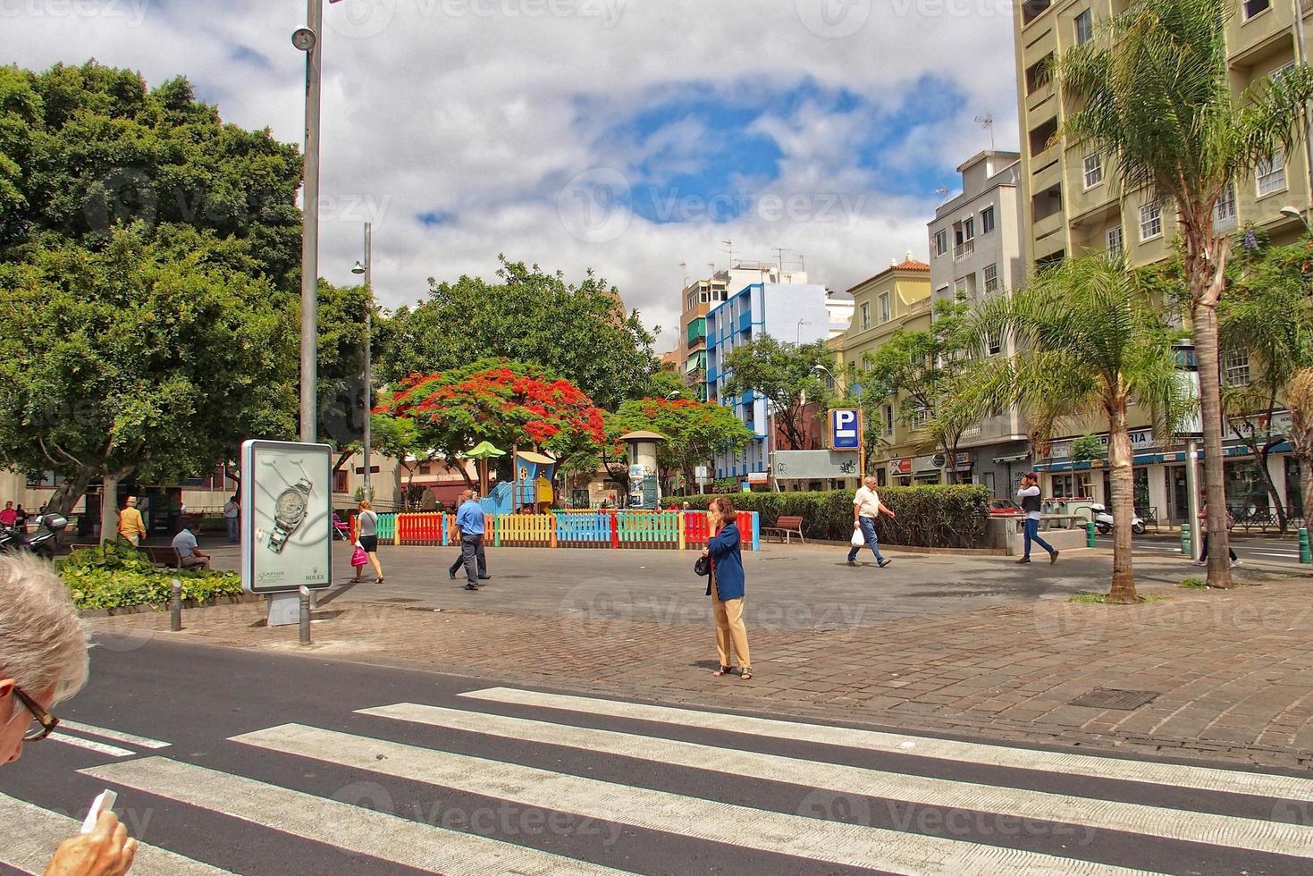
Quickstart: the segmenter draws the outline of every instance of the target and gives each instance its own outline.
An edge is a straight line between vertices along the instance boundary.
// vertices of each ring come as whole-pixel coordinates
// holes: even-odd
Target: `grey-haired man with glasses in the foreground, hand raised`
[[[50,565],[0,553],[0,764],[59,724],[50,709],[87,683],[87,626]],[[135,855],[137,841],[105,810],[91,833],[59,846],[46,876],[119,876]]]

